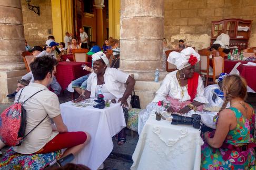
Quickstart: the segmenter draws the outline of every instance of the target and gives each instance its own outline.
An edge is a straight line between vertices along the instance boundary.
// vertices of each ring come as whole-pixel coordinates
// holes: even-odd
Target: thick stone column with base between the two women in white
[[[141,107],[151,102],[160,83],[153,82],[156,68],[160,79],[164,36],[164,0],[122,0],[120,29],[120,70],[136,79],[135,92]]]

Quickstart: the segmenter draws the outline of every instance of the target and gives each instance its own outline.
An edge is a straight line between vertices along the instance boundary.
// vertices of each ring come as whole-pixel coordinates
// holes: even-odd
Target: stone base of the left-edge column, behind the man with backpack
[[[8,103],[7,94],[13,93],[17,88],[17,80],[27,73],[26,70],[0,70],[0,103]]]

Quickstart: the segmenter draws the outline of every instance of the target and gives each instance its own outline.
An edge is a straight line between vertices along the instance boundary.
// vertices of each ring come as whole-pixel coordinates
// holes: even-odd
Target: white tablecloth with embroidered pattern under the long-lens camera
[[[192,125],[170,123],[150,115],[133,153],[131,169],[200,169],[200,131]]]

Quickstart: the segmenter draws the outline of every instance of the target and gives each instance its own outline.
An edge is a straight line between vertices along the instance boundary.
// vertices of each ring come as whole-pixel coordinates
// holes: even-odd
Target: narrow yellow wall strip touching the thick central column
[[[120,38],[120,0],[109,0],[109,35]]]

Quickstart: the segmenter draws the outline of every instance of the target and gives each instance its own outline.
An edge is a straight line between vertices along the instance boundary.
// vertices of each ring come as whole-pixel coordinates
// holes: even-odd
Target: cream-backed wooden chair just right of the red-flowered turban
[[[206,77],[205,86],[208,86],[208,79],[213,78],[213,72],[209,70],[211,52],[208,50],[198,50],[198,54],[200,55],[200,75]]]

